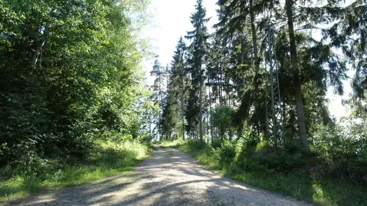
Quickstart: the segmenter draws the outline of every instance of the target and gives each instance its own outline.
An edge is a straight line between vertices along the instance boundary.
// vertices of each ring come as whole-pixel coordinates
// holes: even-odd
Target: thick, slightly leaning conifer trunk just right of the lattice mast
[[[305,123],[305,115],[304,115],[304,106],[302,100],[302,91],[301,85],[299,81],[299,71],[298,71],[298,60],[297,60],[297,45],[294,33],[294,25],[293,25],[293,14],[292,14],[292,1],[285,0],[285,9],[287,13],[288,20],[288,32],[289,32],[289,42],[290,42],[290,50],[291,50],[291,65],[294,75],[294,88],[295,88],[295,99],[296,99],[296,108],[297,108],[297,120],[299,127],[299,137],[301,139],[302,146],[307,149],[308,148],[308,139],[306,133],[306,123]]]

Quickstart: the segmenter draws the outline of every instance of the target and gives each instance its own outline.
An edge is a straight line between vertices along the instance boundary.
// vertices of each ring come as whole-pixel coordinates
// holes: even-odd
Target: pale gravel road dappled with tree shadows
[[[133,172],[69,187],[19,206],[306,206],[216,174],[186,153],[156,147]]]

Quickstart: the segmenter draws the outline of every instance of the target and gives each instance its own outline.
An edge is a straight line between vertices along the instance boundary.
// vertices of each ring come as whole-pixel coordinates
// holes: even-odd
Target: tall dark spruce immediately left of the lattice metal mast
[[[235,62],[236,74],[241,74],[242,79],[236,80],[236,90],[241,101],[239,109],[236,112],[235,124],[241,126],[246,119],[252,119],[252,124],[256,127],[259,124],[265,124],[264,117],[261,117],[258,111],[265,110],[265,101],[263,95],[264,73],[260,71],[260,59],[258,52],[259,32],[256,28],[262,28],[263,22],[257,25],[256,19],[263,18],[263,15],[257,17],[264,11],[270,1],[262,0],[218,0],[220,6],[219,22],[215,25],[217,28],[216,34],[221,37],[226,43],[229,41],[232,48],[231,56],[236,57]],[[249,21],[250,20],[250,21]],[[260,36],[261,37],[261,36]],[[251,40],[251,42],[249,41]],[[246,54],[252,54],[250,55]],[[252,106],[256,109],[254,113],[250,113]]]

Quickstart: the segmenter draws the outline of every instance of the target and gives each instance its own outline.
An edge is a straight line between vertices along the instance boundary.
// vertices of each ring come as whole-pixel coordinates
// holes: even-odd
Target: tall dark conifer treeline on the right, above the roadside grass
[[[190,18],[194,30],[178,42],[171,65],[155,62],[151,98],[161,112],[151,115],[157,126],[147,131],[157,140],[205,141],[223,149],[221,158],[230,161],[245,145],[240,146],[248,150],[240,154],[244,167],[285,173],[307,168],[367,185],[366,1],[218,0],[217,5],[213,34],[197,0]],[[266,62],[277,68],[276,121],[268,114],[274,79]],[[327,90],[342,95],[352,68],[353,94],[344,103],[353,112],[338,123],[329,114]],[[278,135],[271,135],[269,122],[279,122]]]

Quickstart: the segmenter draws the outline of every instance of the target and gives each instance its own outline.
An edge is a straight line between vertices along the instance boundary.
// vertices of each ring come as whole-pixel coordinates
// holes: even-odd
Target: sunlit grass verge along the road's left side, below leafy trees
[[[97,145],[88,160],[83,162],[71,164],[43,161],[34,172],[16,174],[10,171],[6,175],[2,172],[0,203],[44,190],[91,183],[121,172],[129,173],[135,165],[150,155],[150,148],[138,143],[125,142],[117,145],[98,142]]]

